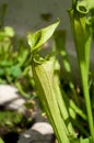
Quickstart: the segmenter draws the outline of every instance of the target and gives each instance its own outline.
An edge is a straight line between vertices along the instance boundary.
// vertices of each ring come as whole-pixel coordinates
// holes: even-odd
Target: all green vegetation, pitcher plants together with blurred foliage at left
[[[2,15],[4,11],[5,7]],[[94,81],[90,78],[90,52],[94,38],[94,1],[72,0],[68,13],[80,72],[80,92],[72,78],[66,50],[66,31],[56,31],[60,20],[35,33],[28,33],[28,44],[26,40],[16,37],[12,28],[3,28],[2,20],[0,84],[16,86],[19,91],[28,99],[33,98],[33,94],[30,92],[34,89],[37,91],[36,95],[43,103],[43,110],[54,128],[58,143],[94,143]],[[40,53],[43,45],[51,36],[52,51],[43,57]],[[63,79],[62,66],[67,79]],[[26,105],[27,108],[30,106],[31,103]],[[9,120],[4,122],[10,128],[22,122],[22,116],[19,113],[14,116],[10,112],[1,112],[1,127],[4,125],[2,120],[5,118]],[[3,143],[1,139],[0,143]]]

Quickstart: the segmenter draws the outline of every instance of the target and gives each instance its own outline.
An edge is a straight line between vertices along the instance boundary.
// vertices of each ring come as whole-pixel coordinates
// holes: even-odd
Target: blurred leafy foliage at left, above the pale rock
[[[26,98],[33,86],[31,55],[26,41],[14,35],[14,30],[5,26],[0,31],[0,84],[11,84]],[[32,87],[31,86],[31,87]],[[23,89],[25,87],[25,89]]]

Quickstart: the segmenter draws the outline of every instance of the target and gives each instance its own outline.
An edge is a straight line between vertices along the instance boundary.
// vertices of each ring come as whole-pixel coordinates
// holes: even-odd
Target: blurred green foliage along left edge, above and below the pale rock
[[[31,67],[31,53],[26,37],[17,35],[13,28],[4,26],[7,4],[0,9],[0,85],[11,85],[26,99],[33,99],[34,80]],[[20,133],[32,122],[34,103],[30,100],[27,112],[11,111],[0,106],[0,136],[8,132]],[[3,143],[0,138],[0,143]]]

